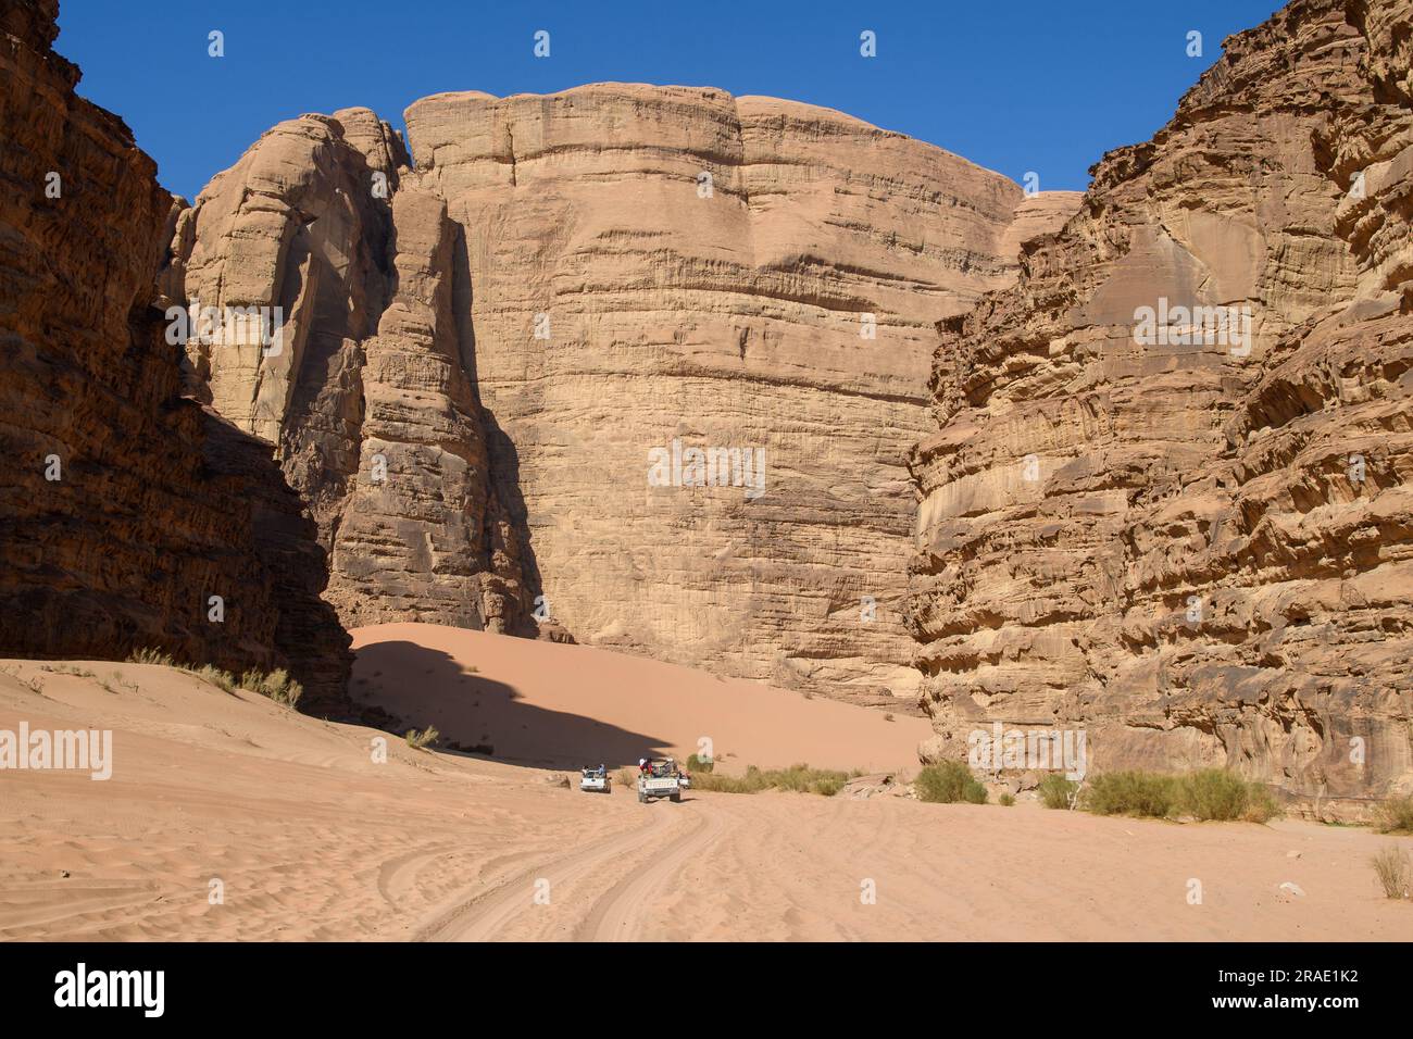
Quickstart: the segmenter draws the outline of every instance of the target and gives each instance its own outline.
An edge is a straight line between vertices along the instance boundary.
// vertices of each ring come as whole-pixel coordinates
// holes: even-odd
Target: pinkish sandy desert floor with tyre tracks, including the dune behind
[[[897,768],[926,722],[582,647],[425,625],[356,638],[363,698],[507,761],[165,667],[0,662],[0,729],[113,731],[106,782],[0,772],[0,939],[1413,939],[1413,903],[1383,899],[1368,864],[1410,838],[1026,802],[643,806],[544,766],[706,735],[733,766]]]

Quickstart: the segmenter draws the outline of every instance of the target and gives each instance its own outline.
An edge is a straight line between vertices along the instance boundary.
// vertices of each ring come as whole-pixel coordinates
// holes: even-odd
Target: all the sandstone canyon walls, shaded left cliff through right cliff
[[[55,0],[4,10],[0,654],[288,667],[339,715],[345,629],[430,622],[924,712],[924,761],[1000,722],[1413,783],[1409,4],[1293,0],[1082,195],[595,83],[304,115],[189,204]],[[759,493],[654,482],[674,445]]]

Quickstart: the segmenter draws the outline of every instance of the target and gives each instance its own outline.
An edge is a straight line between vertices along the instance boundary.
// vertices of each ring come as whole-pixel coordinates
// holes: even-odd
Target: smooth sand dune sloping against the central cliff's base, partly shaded
[[[926,718],[588,646],[393,623],[353,629],[353,649],[355,697],[523,765],[616,768],[708,739],[728,769],[901,769],[933,734]]]

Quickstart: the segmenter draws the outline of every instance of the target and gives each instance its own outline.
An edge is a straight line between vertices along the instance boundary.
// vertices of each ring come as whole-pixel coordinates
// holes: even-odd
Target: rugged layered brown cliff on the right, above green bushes
[[[1091,769],[1413,787],[1410,33],[1297,0],[1232,37],[1015,290],[940,322],[924,756],[1000,721],[1087,729]]]

